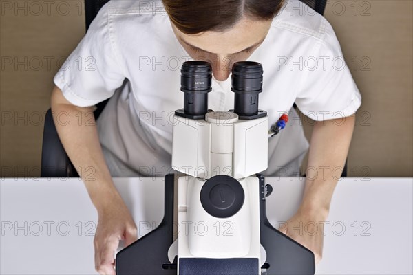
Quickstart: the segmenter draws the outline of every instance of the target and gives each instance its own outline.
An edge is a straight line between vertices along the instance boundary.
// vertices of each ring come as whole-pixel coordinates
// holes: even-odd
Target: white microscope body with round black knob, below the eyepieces
[[[172,167],[187,174],[178,179],[178,274],[181,260],[191,258],[246,258],[260,274],[260,186],[254,174],[268,162],[268,117],[260,114],[174,115]]]

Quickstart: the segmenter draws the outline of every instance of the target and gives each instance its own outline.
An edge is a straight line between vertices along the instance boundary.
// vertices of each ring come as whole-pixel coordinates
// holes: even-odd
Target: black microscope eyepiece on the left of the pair
[[[206,61],[186,61],[181,68],[181,91],[184,95],[184,113],[205,115],[208,111],[208,93],[212,90],[212,67]]]

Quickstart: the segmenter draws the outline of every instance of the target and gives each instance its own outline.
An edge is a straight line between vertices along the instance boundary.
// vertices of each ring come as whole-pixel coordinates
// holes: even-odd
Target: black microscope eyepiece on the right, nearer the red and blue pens
[[[262,92],[262,65],[253,61],[234,63],[231,91],[235,93],[234,113],[243,117],[258,114],[258,94]]]

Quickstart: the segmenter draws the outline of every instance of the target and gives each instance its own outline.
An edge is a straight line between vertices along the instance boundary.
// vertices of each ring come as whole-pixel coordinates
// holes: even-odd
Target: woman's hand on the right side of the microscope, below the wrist
[[[298,210],[291,219],[282,223],[278,230],[311,250],[317,265],[323,256],[325,220],[324,215],[317,212]]]

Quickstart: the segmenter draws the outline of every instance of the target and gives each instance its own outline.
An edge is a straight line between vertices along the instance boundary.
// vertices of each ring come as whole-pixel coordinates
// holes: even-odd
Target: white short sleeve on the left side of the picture
[[[87,34],[54,76],[63,96],[78,107],[110,98],[125,80],[111,34],[109,5],[99,10]]]

